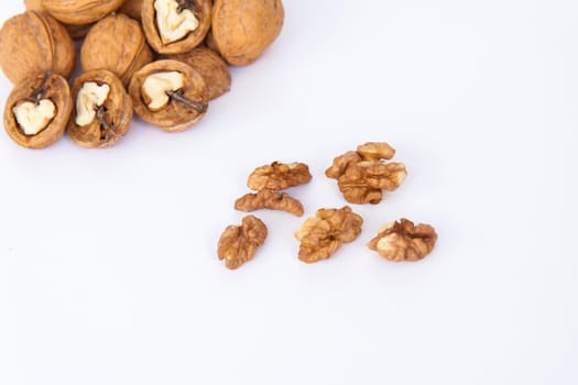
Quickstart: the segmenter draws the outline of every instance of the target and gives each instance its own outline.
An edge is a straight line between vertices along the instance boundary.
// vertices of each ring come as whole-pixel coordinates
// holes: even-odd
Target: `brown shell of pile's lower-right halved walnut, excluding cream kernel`
[[[149,75],[161,72],[178,72],[185,76],[185,86],[179,90],[179,97],[184,100],[171,97],[166,107],[159,111],[151,111],[144,102],[142,86]],[[209,100],[203,76],[190,66],[177,61],[157,61],[142,67],[134,73],[129,94],[134,112],[145,122],[166,132],[181,132],[197,123],[205,116]]]

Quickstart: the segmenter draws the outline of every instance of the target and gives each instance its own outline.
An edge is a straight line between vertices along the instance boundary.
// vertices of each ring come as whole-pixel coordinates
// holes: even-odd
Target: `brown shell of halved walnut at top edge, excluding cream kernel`
[[[151,47],[160,54],[182,54],[203,43],[211,23],[211,0],[178,0],[184,8],[190,9],[198,20],[198,26],[184,38],[168,44],[163,43],[156,25],[154,0],[143,0],[141,21],[144,34]]]

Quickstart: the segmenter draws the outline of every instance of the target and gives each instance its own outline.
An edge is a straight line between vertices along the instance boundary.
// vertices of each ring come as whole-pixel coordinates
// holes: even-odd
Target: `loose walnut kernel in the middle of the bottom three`
[[[301,242],[299,260],[306,263],[330,257],[343,243],[352,242],[361,232],[363,219],[349,206],[319,209],[307,219],[295,238]]]

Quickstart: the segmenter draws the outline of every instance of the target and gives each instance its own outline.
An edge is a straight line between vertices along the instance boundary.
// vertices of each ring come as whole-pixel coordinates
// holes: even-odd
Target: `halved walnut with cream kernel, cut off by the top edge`
[[[199,45],[211,21],[211,0],[144,0],[141,20],[151,47],[181,54]]]

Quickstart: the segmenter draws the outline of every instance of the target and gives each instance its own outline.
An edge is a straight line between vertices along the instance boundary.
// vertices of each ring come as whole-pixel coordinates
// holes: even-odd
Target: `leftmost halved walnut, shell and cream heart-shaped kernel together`
[[[8,97],[4,128],[21,146],[44,148],[64,134],[72,109],[65,78],[53,73],[31,76]]]

